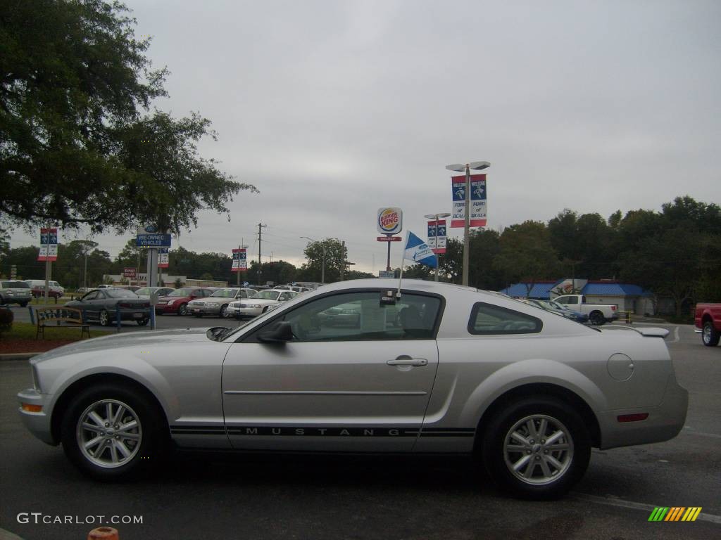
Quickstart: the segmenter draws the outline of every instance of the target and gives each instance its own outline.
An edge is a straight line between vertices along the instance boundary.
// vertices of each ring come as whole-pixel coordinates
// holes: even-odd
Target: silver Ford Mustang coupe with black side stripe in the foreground
[[[557,498],[601,449],[686,419],[660,328],[589,328],[452,284],[324,285],[238,328],[127,333],[30,360],[32,433],[99,480],[185,449],[471,454],[521,498]],[[322,316],[342,306],[353,325]]]

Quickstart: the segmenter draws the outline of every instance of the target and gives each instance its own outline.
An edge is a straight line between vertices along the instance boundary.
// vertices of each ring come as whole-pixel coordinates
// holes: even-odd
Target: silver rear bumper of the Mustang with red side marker
[[[688,408],[689,391],[679,386],[675,375],[669,375],[660,405],[606,410],[596,414],[601,428],[601,449],[668,441],[684,427]],[[618,421],[619,415],[635,413],[648,413],[648,418],[640,422]]]

